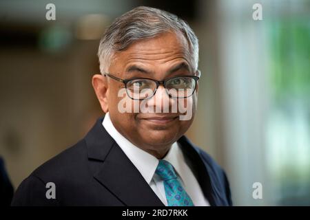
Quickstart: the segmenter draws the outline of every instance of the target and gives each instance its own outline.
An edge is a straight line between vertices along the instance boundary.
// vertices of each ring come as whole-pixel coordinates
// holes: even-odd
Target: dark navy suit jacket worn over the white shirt
[[[102,126],[100,118],[74,146],[45,162],[19,186],[12,206],[164,206],[141,173]],[[231,206],[227,177],[187,137],[178,140],[211,206]],[[46,184],[55,184],[47,199]]]

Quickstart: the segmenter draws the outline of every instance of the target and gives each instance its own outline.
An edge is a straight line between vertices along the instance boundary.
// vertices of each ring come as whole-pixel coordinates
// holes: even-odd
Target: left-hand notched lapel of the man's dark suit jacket
[[[126,206],[164,206],[141,173],[105,131],[100,118],[86,135],[94,178]],[[98,162],[99,161],[99,162]]]

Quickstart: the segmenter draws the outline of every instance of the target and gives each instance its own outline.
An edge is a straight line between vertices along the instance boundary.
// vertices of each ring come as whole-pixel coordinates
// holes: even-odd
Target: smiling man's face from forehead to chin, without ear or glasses
[[[182,34],[179,35],[165,33],[152,39],[137,41],[127,50],[114,55],[109,73],[122,79],[142,77],[159,81],[173,76],[194,75],[194,69],[189,65],[187,41]],[[118,97],[118,91],[125,87],[123,83],[108,77],[103,79],[103,82],[107,84],[107,109],[116,129],[130,142],[157,157],[163,157],[169,146],[192,124],[196,111],[197,89],[193,96],[180,99],[185,103],[185,107],[190,107],[192,111],[192,117],[180,120],[182,113],[172,113],[171,109],[172,104],[179,101],[169,98],[163,85],[158,87],[152,98],[144,102],[148,107],[156,108],[159,105],[162,110],[163,102],[169,103],[169,113],[121,113],[118,104],[123,98],[132,105],[141,101],[132,100],[128,96]]]

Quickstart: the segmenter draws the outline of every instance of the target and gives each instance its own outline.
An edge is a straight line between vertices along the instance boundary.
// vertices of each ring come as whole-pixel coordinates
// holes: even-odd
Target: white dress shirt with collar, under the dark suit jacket
[[[121,135],[121,133],[119,133],[114,127],[109,113],[105,114],[102,124],[107,133],[109,133],[118,146],[121,147],[132,164],[136,166],[158,198],[161,199],[165,206],[167,206],[167,198],[165,196],[163,180],[155,173],[159,163],[158,159],[146,151],[143,151],[141,148],[138,148],[123,135]],[[167,162],[174,166],[176,175],[178,175],[181,180],[180,184],[182,184],[189,197],[191,197],[194,205],[209,206],[209,202],[207,201],[207,198],[204,197],[203,190],[201,190],[196,177],[192,173],[192,170],[189,166],[187,166],[183,152],[180,150],[177,142],[172,144],[169,152],[163,159],[167,160]]]

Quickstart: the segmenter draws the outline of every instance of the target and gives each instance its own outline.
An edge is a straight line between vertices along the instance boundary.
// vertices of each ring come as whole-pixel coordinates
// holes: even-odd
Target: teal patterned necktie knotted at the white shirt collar
[[[172,164],[160,159],[156,174],[164,181],[168,206],[194,206],[192,199],[180,184]]]

